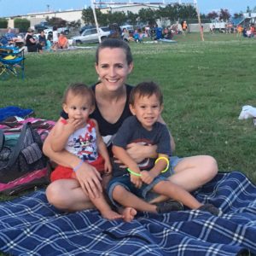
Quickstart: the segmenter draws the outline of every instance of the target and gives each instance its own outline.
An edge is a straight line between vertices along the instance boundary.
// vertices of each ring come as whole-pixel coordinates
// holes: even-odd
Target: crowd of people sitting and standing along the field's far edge
[[[111,26],[111,33],[109,38],[122,38],[125,42],[143,43],[143,38],[151,38],[152,40],[172,40],[173,36],[177,34],[185,35],[189,32],[189,24],[186,20],[182,22],[176,22],[169,26],[160,27],[144,26],[143,28],[135,27],[134,30],[120,29],[118,25]],[[204,28],[203,28],[204,29]],[[209,27],[210,33],[224,32],[224,33],[236,33],[236,37],[253,38],[256,35],[255,24],[238,25],[234,26],[231,23],[226,23],[223,28],[217,28],[212,24]],[[40,32],[39,35],[34,34],[32,28],[28,28],[26,35],[22,38],[17,35],[15,29],[8,28],[8,31],[0,38],[0,45],[10,45],[22,47],[25,45],[28,52],[42,53],[44,51],[55,51],[58,49],[68,49],[69,42],[64,32],[58,33],[57,27],[53,27],[53,32],[48,33]]]

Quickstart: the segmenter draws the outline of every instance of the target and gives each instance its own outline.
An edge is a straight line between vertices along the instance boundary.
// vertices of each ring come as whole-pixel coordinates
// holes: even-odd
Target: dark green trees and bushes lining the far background
[[[250,9],[247,7],[247,13],[256,12],[256,7]],[[96,9],[96,17],[100,26],[108,26],[109,24],[117,23],[119,25],[123,25],[125,23],[129,23],[133,26],[137,24],[142,24],[144,26],[154,26],[156,24],[156,20],[160,20],[162,24],[165,24],[166,20],[170,20],[171,22],[183,20],[190,21],[189,23],[197,22],[197,13],[194,5],[191,4],[168,4],[166,7],[159,7],[159,9],[152,8],[143,8],[140,9],[137,14],[128,11],[125,14],[124,11],[112,12],[109,11],[107,14],[103,14],[101,9]],[[201,14],[201,20],[203,22],[211,22],[211,20],[224,20],[227,21],[231,17],[228,9],[220,9],[219,12],[212,11],[207,15]],[[242,17],[242,13],[234,14],[235,18]],[[94,16],[92,9],[89,7],[87,9],[83,9],[81,20],[74,20],[71,22],[67,22],[67,20],[62,20],[61,18],[46,18],[49,21],[49,24],[52,26],[70,26],[78,28],[81,26],[81,20],[84,21],[85,24],[95,24]],[[8,26],[8,20],[4,18],[0,18],[0,28],[6,28]],[[15,27],[20,28],[21,31],[26,30],[27,27],[30,26],[30,20],[26,19],[15,19]]]

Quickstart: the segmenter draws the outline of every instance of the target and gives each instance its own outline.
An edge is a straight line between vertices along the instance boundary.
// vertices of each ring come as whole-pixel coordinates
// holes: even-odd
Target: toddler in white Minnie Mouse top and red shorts
[[[102,179],[109,177],[112,166],[108,157],[108,151],[98,130],[95,119],[89,119],[90,113],[94,110],[94,95],[92,90],[85,84],[71,84],[63,97],[62,108],[68,114],[68,119],[59,119],[55,124],[54,133],[50,142],[55,152],[64,148],[70,153],[76,154],[81,159],[96,168],[102,173]],[[57,166],[51,173],[50,180],[76,179],[74,169]],[[113,212],[105,201],[104,196],[90,198],[90,201],[102,213],[103,218],[122,218],[117,212]]]

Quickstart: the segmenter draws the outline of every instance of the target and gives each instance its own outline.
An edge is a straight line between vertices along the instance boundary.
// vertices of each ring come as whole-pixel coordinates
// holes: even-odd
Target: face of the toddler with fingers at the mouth
[[[63,109],[68,114],[69,119],[83,119],[86,122],[94,108],[89,96],[69,94],[67,102],[63,104]]]

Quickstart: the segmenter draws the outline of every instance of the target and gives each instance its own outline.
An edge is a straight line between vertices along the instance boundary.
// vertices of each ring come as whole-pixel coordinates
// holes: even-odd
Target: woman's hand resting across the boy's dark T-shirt
[[[133,160],[140,163],[145,158],[156,157],[156,146],[145,146],[139,143],[130,143],[126,147],[126,152]]]

